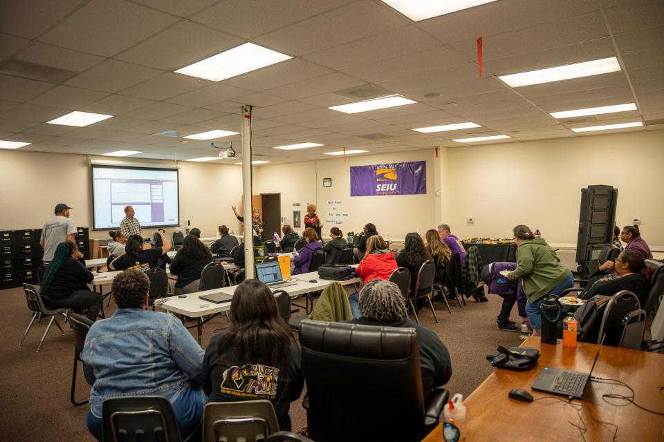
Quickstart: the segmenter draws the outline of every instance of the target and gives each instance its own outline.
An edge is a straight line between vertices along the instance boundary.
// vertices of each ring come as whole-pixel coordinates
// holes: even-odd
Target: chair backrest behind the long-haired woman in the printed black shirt
[[[277,414],[270,401],[208,402],[205,405],[205,442],[261,441],[277,431]]]

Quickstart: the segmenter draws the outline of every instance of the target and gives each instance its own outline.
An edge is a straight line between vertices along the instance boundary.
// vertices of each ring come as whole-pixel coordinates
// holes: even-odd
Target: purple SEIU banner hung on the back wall
[[[351,167],[351,196],[427,193],[427,162]]]

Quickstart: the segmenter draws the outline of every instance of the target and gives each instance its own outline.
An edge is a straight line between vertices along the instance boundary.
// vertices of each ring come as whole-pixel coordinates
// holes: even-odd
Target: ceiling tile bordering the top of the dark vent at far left
[[[58,48],[57,46],[45,44],[41,41],[33,41],[16,58],[34,64],[73,70],[75,72],[82,72],[104,61],[104,57]]]

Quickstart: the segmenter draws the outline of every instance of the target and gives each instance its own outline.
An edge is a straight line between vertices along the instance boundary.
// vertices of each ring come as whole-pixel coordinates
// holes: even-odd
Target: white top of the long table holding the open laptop
[[[297,278],[297,283],[295,285],[289,285],[288,287],[280,287],[273,289],[284,290],[291,296],[299,296],[310,291],[322,290],[331,284],[331,280],[320,279],[318,273],[311,271],[309,273],[302,273],[301,275],[294,275],[293,278]],[[316,282],[309,282],[310,280],[316,280]],[[362,281],[360,278],[353,278],[344,281],[338,281],[341,285],[354,284],[356,282]],[[205,291],[198,291],[196,293],[184,295],[185,298],[178,298],[178,296],[172,296],[169,300],[164,302],[160,307],[165,309],[169,313],[176,313],[187,316],[188,318],[199,318],[201,316],[212,315],[219,313],[221,311],[228,311],[230,309],[230,301],[222,302],[221,304],[215,304],[214,302],[201,300],[199,296],[201,295],[212,295],[217,293],[229,294],[232,295],[235,292],[237,285],[232,285],[230,287],[222,287],[221,289],[212,289]],[[201,305],[207,304],[208,307],[201,307]]]

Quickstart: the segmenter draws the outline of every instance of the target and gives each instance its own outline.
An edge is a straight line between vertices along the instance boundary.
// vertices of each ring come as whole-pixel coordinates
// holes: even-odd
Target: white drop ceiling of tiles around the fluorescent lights
[[[173,72],[246,41],[293,59],[217,83]],[[495,77],[613,56],[622,72],[517,89]],[[328,109],[363,89],[418,103]],[[588,122],[548,115],[626,102],[638,111]],[[375,154],[459,146],[452,139],[479,133],[538,140],[587,136],[570,128],[591,122],[647,124],[664,119],[664,1],[498,0],[417,23],[378,0],[0,1],[0,139],[33,143],[21,150],[216,156],[210,141],[153,134],[238,132],[243,104],[255,106],[253,152],[272,162],[344,146]],[[46,124],[71,111],[115,116],[84,128]],[[482,127],[411,130],[467,121]],[[214,141],[230,140],[239,135]],[[324,146],[271,148],[300,142]]]

